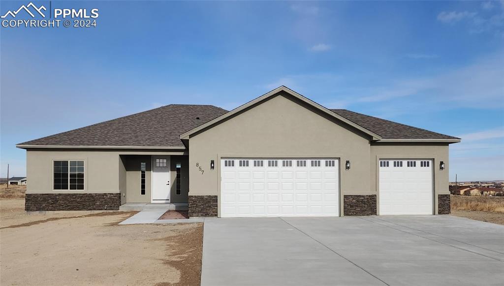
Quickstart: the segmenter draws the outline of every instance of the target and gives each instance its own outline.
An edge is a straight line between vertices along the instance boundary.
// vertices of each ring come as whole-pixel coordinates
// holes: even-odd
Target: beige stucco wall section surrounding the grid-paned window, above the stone
[[[54,160],[84,161],[84,190],[53,190]],[[27,193],[117,193],[119,192],[119,160],[113,152],[27,151]]]

